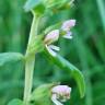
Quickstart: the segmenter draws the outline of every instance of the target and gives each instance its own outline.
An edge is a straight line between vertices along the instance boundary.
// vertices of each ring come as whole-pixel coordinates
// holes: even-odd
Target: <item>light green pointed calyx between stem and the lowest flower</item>
[[[34,90],[31,95],[31,101],[34,105],[52,105],[51,89],[58,83],[43,84]]]

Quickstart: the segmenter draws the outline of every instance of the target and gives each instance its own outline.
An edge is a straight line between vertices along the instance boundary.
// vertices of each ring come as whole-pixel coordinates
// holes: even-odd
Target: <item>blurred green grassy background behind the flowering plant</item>
[[[0,52],[25,54],[32,15],[24,12],[24,2],[25,0],[0,0]],[[77,19],[74,38],[60,39],[59,46],[60,55],[83,72],[85,97],[81,100],[71,77],[48,63],[42,54],[36,57],[34,86],[61,81],[73,88],[67,105],[105,105],[105,0],[75,0],[74,3],[71,10],[50,18],[48,24]],[[24,67],[21,62],[0,67],[0,105],[7,105],[14,97],[22,98],[23,88]]]

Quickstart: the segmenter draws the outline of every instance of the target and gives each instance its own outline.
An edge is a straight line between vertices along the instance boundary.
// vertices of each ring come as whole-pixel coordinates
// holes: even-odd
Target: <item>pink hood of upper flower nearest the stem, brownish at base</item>
[[[49,45],[56,40],[58,40],[59,38],[59,30],[54,30],[51,32],[49,32],[46,37],[45,37],[45,44]]]

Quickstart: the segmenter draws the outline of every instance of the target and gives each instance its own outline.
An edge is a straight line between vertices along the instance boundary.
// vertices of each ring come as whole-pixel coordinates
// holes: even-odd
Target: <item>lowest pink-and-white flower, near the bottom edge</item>
[[[68,85],[57,85],[52,88],[51,92],[51,101],[56,105],[63,105],[61,102],[66,102],[70,98],[71,88],[69,88]]]

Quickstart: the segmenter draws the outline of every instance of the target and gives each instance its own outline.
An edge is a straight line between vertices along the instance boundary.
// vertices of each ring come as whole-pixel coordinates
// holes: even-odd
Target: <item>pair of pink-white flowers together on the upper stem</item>
[[[59,47],[51,45],[52,43],[57,42],[60,36],[68,39],[72,38],[72,32],[70,30],[74,25],[75,20],[68,20],[62,23],[60,30],[54,30],[46,35],[44,43],[50,55],[56,56],[56,51],[60,49]]]

